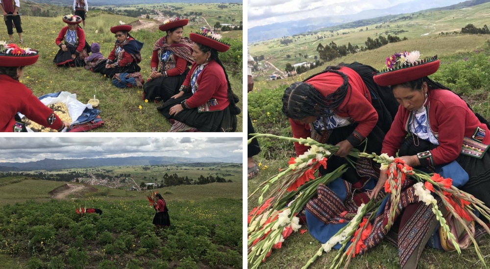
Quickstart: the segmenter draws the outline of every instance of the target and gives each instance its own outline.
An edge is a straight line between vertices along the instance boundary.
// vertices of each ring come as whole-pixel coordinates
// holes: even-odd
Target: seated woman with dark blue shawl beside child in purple
[[[100,72],[109,78],[116,73],[135,73],[141,70],[138,63],[141,62],[141,48],[143,43],[135,40],[130,34],[132,27],[128,24],[120,24],[111,27],[111,32],[116,34],[116,44],[112,49],[107,62],[94,67],[94,72]]]

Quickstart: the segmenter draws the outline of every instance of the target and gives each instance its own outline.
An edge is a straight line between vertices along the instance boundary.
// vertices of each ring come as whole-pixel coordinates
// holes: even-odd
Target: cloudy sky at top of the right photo
[[[419,0],[248,0],[248,28],[275,22],[356,14],[363,10],[390,8],[410,2],[414,2],[414,9],[420,10],[417,9]],[[454,2],[460,1],[448,0],[447,4],[441,3],[439,6]],[[396,10],[393,10],[393,14],[397,14]]]

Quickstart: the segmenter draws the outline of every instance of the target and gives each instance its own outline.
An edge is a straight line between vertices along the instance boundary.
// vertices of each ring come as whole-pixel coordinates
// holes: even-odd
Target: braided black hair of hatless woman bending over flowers
[[[282,97],[282,112],[289,118],[302,119],[308,116],[328,117],[340,111],[342,109],[340,106],[345,98],[347,98],[346,103],[350,99],[347,92],[351,88],[347,75],[339,71],[340,68],[340,65],[326,67],[325,70],[308,77],[303,82],[296,82],[288,87]],[[343,78],[342,85],[327,96],[323,96],[306,82],[325,72],[336,73]]]

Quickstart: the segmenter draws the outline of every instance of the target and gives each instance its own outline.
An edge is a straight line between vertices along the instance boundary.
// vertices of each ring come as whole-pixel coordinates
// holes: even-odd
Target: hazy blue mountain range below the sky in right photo
[[[347,22],[378,18],[388,15],[412,14],[422,10],[448,10],[460,9],[489,2],[490,0],[416,0],[402,3],[385,9],[364,10],[356,14],[341,16],[325,16],[320,18],[308,18],[299,21],[277,22],[248,29],[248,43],[263,41],[273,38],[289,37],[305,32],[318,31],[329,26],[340,25]],[[359,24],[359,23],[357,23]],[[368,24],[371,24],[369,22]],[[368,25],[366,24],[366,25]],[[346,27],[347,28],[347,27]]]

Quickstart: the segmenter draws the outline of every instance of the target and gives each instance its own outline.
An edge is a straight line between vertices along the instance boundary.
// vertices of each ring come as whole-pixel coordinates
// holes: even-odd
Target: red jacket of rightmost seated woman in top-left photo
[[[183,86],[191,90],[191,79],[194,70],[199,65],[196,62],[192,63],[191,71],[187,73]],[[218,105],[210,106],[210,111],[220,111],[228,107],[228,84],[224,76],[223,68],[220,64],[211,60],[201,71],[196,79],[198,89],[196,92],[185,101],[185,106],[188,108],[196,108],[205,104],[210,99],[216,99]]]

